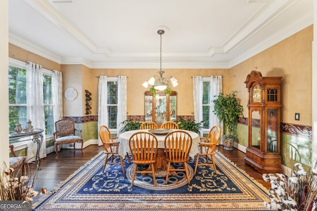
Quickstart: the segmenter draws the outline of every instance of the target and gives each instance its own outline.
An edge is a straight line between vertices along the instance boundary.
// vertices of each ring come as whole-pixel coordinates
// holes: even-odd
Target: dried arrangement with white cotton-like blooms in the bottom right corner
[[[264,181],[270,181],[268,190],[270,202],[264,202],[268,209],[281,211],[312,211],[317,206],[317,172],[306,172],[299,163],[294,165],[290,176],[282,173],[263,174]]]

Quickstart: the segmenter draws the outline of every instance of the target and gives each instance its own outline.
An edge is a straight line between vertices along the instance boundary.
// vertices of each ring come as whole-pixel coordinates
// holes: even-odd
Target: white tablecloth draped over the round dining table
[[[138,130],[130,130],[130,131],[126,131],[126,132],[123,132],[119,135],[119,150],[118,150],[118,153],[119,155],[122,156],[122,158],[125,157],[126,153],[130,153],[130,148],[129,148],[129,139],[130,137],[136,133],[136,132],[139,132],[139,131],[148,131],[149,129],[138,129]],[[190,152],[189,152],[189,156],[194,158],[194,156],[198,153],[198,145],[199,145],[199,142],[200,142],[200,137],[199,135],[196,133],[196,132],[193,132],[193,131],[189,131],[189,130],[183,130],[183,131],[186,131],[188,132],[191,136],[192,136],[192,139],[193,139],[193,142],[192,142],[192,147],[190,149]],[[164,140],[165,140],[165,136],[166,135],[155,135],[158,139],[158,148],[165,148],[164,147]]]

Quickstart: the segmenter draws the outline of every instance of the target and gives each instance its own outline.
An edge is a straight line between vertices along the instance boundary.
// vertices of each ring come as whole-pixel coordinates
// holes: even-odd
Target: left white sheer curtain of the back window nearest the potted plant
[[[194,118],[196,123],[203,121],[203,78],[193,76]],[[203,131],[200,132],[203,136]]]

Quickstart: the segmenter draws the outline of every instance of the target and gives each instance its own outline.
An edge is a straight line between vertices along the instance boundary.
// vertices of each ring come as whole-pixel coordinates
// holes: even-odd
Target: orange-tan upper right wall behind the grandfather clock
[[[245,117],[248,92],[243,82],[257,67],[264,77],[283,77],[281,122],[312,126],[312,41],[313,25],[230,68],[230,89],[238,90]],[[300,121],[295,121],[295,113],[300,113]]]

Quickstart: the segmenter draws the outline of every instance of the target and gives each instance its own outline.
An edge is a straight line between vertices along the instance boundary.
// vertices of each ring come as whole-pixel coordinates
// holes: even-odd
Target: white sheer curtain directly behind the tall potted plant
[[[214,96],[217,96],[220,92],[222,92],[222,76],[211,76],[210,77],[210,114],[209,114],[209,125],[219,126],[221,129],[221,134],[223,134],[223,122],[219,120],[219,118],[212,112],[214,109],[214,104],[212,100],[215,99]],[[221,138],[219,139],[221,142]]]

